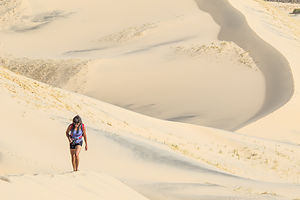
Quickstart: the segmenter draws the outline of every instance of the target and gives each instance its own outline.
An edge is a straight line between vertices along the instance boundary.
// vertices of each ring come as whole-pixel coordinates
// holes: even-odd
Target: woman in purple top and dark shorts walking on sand
[[[76,115],[73,118],[73,123],[68,126],[66,136],[70,143],[73,171],[78,171],[79,153],[83,143],[82,137],[84,137],[85,150],[88,149],[86,131],[79,115]]]

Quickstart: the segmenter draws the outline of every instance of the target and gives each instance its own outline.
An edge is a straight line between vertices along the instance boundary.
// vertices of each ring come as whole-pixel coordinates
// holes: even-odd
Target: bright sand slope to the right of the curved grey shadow
[[[299,138],[299,51],[300,29],[297,22],[272,4],[262,1],[232,1],[247,17],[250,26],[276,47],[289,61],[294,77],[294,95],[282,108],[238,132],[272,138],[298,145]],[[253,9],[250,11],[249,7]],[[258,14],[259,13],[259,14]],[[264,19],[264,20],[260,20]],[[266,26],[268,24],[268,26]]]

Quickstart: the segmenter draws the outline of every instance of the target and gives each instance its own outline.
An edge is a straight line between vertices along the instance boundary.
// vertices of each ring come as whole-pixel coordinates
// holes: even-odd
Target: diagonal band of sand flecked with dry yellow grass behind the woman
[[[1,70],[1,77],[2,80],[5,78],[13,83],[3,84],[2,81],[2,89],[7,88],[15,98],[22,99],[20,103],[35,109],[52,110],[51,113],[57,113],[59,110],[80,113],[95,128],[112,133],[125,132],[142,136],[231,174],[254,179],[260,179],[261,174],[264,174],[265,180],[275,178],[276,181],[299,182],[297,163],[300,161],[297,155],[300,152],[293,145],[145,117],[81,95],[75,96],[28,78],[21,79],[4,69]],[[97,110],[96,105],[100,106]],[[143,121],[140,118],[143,118]],[[136,125],[138,121],[141,121],[141,124]],[[163,125],[169,127],[165,130],[167,134],[163,133],[165,128],[149,129]],[[186,133],[189,137],[184,137]],[[232,165],[233,162],[236,164]],[[245,164],[242,164],[243,162]],[[245,171],[245,165],[255,167],[256,170]],[[294,175],[290,176],[291,173]]]

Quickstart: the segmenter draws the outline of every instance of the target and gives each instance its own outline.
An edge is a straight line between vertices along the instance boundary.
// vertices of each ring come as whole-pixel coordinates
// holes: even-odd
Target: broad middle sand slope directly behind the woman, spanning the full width
[[[0,143],[1,179],[11,180],[8,187],[25,187],[29,184],[25,178],[10,175],[26,174],[29,185],[38,182],[45,190],[51,180],[43,174],[60,177],[70,169],[64,129],[79,113],[89,132],[90,150],[81,156],[81,170],[87,176],[108,173],[150,199],[299,196],[293,184],[299,182],[297,146],[160,121],[4,69],[0,75],[1,110],[7,113],[1,116],[6,124],[1,132],[5,138]],[[49,148],[53,142],[55,148]],[[30,178],[30,174],[40,175]]]

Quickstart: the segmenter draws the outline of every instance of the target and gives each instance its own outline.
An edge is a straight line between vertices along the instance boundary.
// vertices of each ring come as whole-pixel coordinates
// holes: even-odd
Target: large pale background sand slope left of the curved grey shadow
[[[15,72],[153,117],[227,130],[264,102],[253,59],[219,41],[220,27],[192,0],[26,2],[6,13],[10,26],[0,32],[1,64]]]

